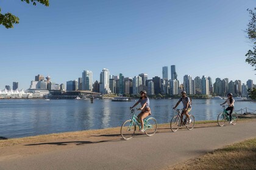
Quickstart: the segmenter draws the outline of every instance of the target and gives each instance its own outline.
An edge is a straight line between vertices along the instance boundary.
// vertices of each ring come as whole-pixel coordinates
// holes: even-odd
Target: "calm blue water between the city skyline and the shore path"
[[[193,99],[196,120],[216,120],[224,100]],[[168,123],[177,100],[150,100],[157,123]],[[0,137],[16,138],[57,132],[121,126],[130,118],[135,101],[111,100],[0,100]],[[182,103],[178,107],[182,107]],[[236,101],[235,110],[256,110],[256,103]],[[249,110],[250,111],[250,110]]]

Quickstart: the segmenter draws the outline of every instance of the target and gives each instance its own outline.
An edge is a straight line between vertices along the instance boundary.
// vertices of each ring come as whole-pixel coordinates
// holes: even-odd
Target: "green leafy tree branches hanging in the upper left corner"
[[[29,4],[32,2],[33,5],[37,5],[37,2],[40,4],[45,5],[46,7],[49,7],[49,0],[21,0],[27,2]],[[15,15],[12,15],[12,13],[1,13],[0,8],[0,25],[4,25],[5,28],[10,29],[13,28],[13,24],[19,24],[19,18]]]

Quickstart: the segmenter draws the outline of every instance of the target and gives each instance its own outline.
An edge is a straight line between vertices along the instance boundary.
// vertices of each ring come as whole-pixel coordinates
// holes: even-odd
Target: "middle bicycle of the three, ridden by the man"
[[[182,121],[181,114],[183,109],[177,109],[177,115],[175,115],[171,119],[171,131],[176,132],[178,131],[180,126],[186,126],[188,130],[191,130],[194,128],[194,116],[190,114],[191,123],[188,122],[188,118],[185,116],[184,120]]]

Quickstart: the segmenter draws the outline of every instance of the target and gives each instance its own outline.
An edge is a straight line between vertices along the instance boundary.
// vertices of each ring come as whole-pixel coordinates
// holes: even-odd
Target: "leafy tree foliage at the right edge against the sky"
[[[256,10],[256,8],[254,8]],[[249,50],[246,53],[246,62],[251,64],[252,67],[256,67],[256,12],[247,9],[251,16],[251,21],[247,24],[246,33],[249,40],[253,43],[253,50]],[[256,68],[254,69],[256,70]]]

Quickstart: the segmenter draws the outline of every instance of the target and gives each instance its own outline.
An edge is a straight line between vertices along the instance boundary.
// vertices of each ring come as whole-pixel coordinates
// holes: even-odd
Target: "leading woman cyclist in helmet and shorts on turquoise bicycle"
[[[151,110],[149,107],[149,98],[147,97],[147,92],[145,90],[142,90],[140,92],[140,99],[137,101],[137,103],[135,103],[132,107],[130,107],[130,109],[137,106],[138,103],[141,104],[140,109],[138,109],[138,110],[141,110],[140,114],[138,114],[138,120],[141,123],[141,129],[139,131],[145,132],[143,119],[151,115]]]

